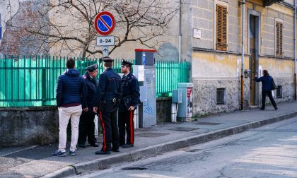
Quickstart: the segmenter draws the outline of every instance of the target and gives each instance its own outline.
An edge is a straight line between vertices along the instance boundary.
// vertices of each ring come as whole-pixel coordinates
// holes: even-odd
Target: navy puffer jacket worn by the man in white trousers
[[[86,108],[88,88],[85,80],[79,76],[76,69],[67,69],[59,76],[56,88],[57,107],[71,104],[81,104]]]

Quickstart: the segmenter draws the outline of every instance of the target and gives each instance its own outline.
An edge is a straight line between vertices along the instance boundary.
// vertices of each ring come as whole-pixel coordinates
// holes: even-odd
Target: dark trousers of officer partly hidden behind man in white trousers
[[[95,144],[95,114],[90,112],[82,112],[79,118],[78,125],[78,144],[85,144],[88,136],[88,143],[91,145]]]

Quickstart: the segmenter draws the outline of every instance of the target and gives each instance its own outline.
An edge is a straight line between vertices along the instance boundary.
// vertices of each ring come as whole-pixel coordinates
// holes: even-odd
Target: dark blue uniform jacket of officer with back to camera
[[[115,73],[112,68],[107,68],[99,76],[98,87],[96,89],[95,106],[103,106],[104,112],[114,112],[118,104],[112,101],[114,98],[118,101],[122,97],[122,83],[119,74]]]

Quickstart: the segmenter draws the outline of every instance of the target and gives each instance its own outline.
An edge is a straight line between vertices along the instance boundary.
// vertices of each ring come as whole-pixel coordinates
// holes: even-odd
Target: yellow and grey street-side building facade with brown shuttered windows
[[[267,69],[279,85],[276,102],[293,100],[293,1],[264,6],[245,1],[244,107],[260,105],[255,74]],[[192,1],[192,81],[194,113],[240,109],[242,4],[238,1]]]

